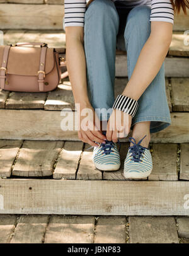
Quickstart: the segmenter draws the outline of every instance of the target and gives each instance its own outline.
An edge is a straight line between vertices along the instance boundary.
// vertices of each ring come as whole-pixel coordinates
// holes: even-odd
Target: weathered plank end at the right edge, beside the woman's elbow
[[[189,56],[188,45],[185,44],[187,37],[188,35],[184,32],[174,32],[168,54],[174,56]]]

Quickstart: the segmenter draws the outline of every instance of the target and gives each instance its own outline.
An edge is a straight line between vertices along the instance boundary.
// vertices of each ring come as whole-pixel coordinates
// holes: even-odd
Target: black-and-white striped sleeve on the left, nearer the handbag
[[[64,26],[84,26],[86,0],[64,0]]]

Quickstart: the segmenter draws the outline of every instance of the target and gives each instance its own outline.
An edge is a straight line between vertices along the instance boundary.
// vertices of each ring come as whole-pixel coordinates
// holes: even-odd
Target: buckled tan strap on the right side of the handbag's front
[[[44,91],[44,81],[45,81],[45,60],[47,54],[47,47],[42,47],[40,55],[40,66],[38,71],[38,88],[40,91]]]

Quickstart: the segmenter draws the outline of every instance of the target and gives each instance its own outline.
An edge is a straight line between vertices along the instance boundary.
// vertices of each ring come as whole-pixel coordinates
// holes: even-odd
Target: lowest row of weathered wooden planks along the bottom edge
[[[187,243],[188,221],[185,216],[1,214],[0,243]],[[95,244],[90,249],[96,251]]]

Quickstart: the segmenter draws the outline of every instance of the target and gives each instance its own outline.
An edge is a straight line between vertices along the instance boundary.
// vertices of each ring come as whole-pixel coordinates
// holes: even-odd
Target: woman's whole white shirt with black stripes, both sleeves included
[[[88,1],[88,0],[87,0]],[[103,1],[103,0],[102,0]],[[117,0],[113,0],[115,2]],[[171,0],[121,0],[128,7],[150,5],[150,21],[166,21],[173,24],[174,10]],[[127,4],[128,2],[128,4]],[[64,0],[64,26],[84,26],[86,0]]]

